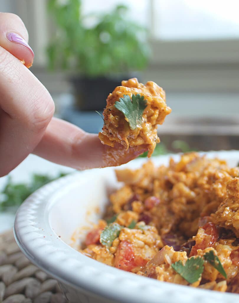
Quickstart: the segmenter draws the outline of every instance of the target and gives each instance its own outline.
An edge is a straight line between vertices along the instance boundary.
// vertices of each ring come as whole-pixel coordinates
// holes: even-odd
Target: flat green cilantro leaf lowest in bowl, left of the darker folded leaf
[[[179,260],[171,266],[182,278],[192,284],[201,278],[203,262],[204,260],[201,257],[191,257],[190,259],[187,259],[185,265]]]

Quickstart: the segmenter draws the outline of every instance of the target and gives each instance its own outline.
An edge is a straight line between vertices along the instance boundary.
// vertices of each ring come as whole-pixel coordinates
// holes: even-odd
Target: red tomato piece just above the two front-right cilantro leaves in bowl
[[[189,257],[195,256],[198,249],[205,249],[207,247],[212,247],[212,245],[218,240],[218,231],[214,223],[206,223],[202,229],[204,232],[196,236],[196,244],[192,247]],[[199,229],[200,230],[200,229]]]

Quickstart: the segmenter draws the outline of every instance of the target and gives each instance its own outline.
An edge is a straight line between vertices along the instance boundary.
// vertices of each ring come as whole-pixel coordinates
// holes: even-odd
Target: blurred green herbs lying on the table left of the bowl
[[[5,211],[9,208],[16,210],[38,188],[64,175],[66,174],[60,173],[56,178],[52,178],[47,175],[34,174],[29,184],[15,184],[12,182],[11,177],[8,177],[5,188],[0,192],[0,211]]]

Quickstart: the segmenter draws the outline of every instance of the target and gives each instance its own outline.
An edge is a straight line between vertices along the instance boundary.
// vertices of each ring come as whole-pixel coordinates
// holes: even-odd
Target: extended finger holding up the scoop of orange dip
[[[84,132],[66,121],[52,118],[33,153],[49,161],[76,169],[117,166],[147,151],[146,145],[103,145],[97,134]]]

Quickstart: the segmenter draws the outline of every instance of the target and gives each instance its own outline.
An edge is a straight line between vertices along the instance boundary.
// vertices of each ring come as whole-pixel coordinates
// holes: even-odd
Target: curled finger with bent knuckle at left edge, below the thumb
[[[47,89],[0,46],[0,177],[29,155],[53,116]]]

